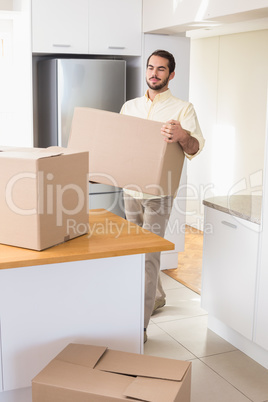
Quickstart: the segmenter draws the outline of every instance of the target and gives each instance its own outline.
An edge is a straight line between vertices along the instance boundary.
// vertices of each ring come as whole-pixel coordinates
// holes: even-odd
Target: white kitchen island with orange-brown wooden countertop
[[[144,253],[173,248],[106,210],[41,252],[0,245],[1,402],[29,402],[31,379],[70,342],[142,353]]]

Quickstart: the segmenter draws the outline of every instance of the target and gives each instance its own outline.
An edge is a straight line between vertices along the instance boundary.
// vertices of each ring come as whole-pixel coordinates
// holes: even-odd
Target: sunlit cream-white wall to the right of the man
[[[268,30],[192,40],[190,101],[206,138],[188,163],[187,223],[202,229],[202,200],[259,194],[264,163]]]

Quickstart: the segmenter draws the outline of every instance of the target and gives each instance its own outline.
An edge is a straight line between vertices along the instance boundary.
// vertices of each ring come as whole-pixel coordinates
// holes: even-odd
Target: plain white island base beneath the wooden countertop
[[[0,401],[68,343],[143,353],[143,289],[143,254],[0,269]]]

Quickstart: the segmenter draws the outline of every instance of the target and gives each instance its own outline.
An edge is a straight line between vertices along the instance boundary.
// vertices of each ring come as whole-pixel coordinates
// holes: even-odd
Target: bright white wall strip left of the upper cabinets
[[[5,1],[2,6],[5,8],[0,3],[0,145],[31,147],[31,2]]]

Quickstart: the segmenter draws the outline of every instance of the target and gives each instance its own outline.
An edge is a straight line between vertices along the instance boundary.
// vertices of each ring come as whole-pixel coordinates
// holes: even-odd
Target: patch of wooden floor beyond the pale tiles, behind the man
[[[179,253],[178,268],[167,269],[163,272],[187,286],[194,292],[201,293],[201,271],[203,232],[186,226],[185,249]]]

